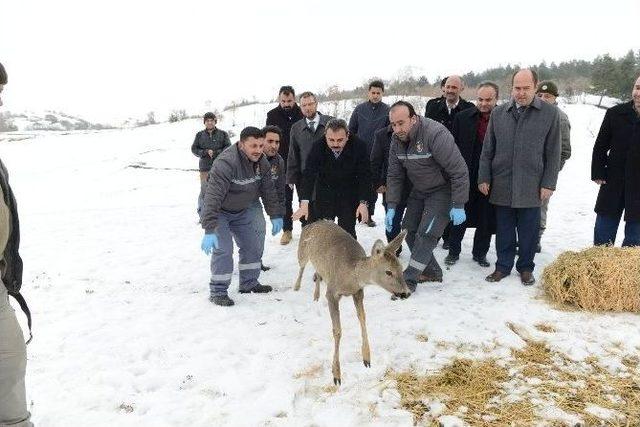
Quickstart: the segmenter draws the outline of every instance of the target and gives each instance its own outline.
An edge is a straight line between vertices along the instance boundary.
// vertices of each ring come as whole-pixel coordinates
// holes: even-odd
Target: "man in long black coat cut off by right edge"
[[[607,110],[593,147],[591,179],[600,185],[594,245],[615,243],[624,211],[622,246],[640,246],[640,77],[631,95]]]

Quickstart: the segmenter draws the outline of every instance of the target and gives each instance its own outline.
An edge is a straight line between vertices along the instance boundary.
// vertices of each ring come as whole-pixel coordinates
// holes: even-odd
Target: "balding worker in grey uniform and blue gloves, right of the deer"
[[[408,231],[411,259],[404,278],[414,292],[422,271],[431,276],[431,281],[442,281],[442,269],[433,257],[433,249],[450,220],[459,225],[466,219],[469,172],[447,128],[416,115],[408,102],[393,104],[389,120],[393,138],[389,149],[385,225],[391,229],[395,207],[408,179],[413,188],[402,227]]]

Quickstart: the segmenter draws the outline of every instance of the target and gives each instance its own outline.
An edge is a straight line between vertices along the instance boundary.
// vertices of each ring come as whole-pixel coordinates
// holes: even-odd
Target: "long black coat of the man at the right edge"
[[[593,147],[591,179],[602,179],[595,211],[640,221],[640,118],[633,101],[607,110]]]

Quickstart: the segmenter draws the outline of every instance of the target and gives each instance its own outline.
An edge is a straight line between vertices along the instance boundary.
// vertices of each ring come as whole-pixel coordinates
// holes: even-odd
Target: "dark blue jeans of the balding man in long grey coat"
[[[540,208],[511,208],[496,206],[496,270],[511,273],[516,258],[516,231],[518,233],[518,262],[516,270],[533,271],[533,258],[540,233]]]

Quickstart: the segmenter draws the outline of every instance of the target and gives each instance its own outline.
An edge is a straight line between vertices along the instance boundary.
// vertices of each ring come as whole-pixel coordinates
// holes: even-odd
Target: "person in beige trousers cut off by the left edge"
[[[0,64],[0,94],[7,73]],[[0,99],[2,106],[2,99]],[[15,199],[7,170],[0,161],[0,426],[30,427],[24,377],[27,349],[16,314],[9,305],[9,289],[22,282],[22,260],[18,254],[20,229]],[[5,285],[6,284],[6,285]],[[15,296],[15,294],[12,294]]]

